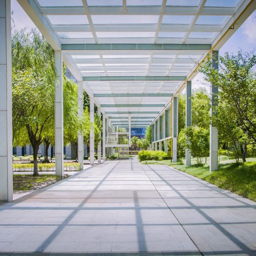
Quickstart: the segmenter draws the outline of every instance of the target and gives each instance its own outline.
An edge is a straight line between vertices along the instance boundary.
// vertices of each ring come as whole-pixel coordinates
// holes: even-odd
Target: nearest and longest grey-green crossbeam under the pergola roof
[[[61,50],[210,50],[211,44],[62,44]]]

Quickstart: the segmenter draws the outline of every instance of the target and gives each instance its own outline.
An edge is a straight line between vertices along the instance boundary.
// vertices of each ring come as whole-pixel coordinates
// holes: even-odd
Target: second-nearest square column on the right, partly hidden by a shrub
[[[186,84],[186,128],[191,126],[191,81]],[[186,148],[186,166],[191,165],[191,152]]]

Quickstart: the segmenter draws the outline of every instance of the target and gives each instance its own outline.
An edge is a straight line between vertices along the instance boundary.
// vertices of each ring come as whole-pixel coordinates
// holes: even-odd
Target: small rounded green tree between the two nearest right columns
[[[187,127],[185,131],[186,147],[197,157],[201,164],[203,157],[209,154],[209,131],[198,126]]]

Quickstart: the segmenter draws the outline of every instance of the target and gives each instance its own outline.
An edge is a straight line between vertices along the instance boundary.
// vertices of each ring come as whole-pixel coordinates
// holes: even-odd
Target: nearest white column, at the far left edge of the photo
[[[0,1],[0,200],[12,201],[11,1]]]

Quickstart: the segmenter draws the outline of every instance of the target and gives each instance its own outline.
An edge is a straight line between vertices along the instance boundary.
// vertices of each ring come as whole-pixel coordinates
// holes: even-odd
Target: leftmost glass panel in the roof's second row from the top
[[[87,15],[48,15],[52,25],[89,24]]]

